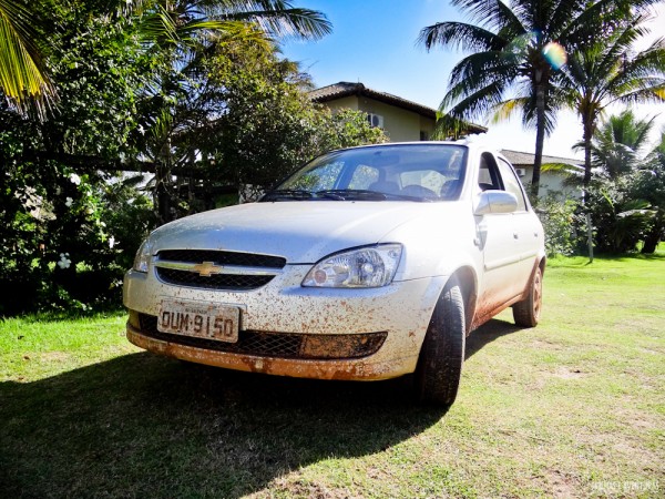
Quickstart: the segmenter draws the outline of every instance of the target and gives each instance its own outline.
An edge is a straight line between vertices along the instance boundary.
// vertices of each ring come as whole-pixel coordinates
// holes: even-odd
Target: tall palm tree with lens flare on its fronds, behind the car
[[[522,100],[514,101],[513,109],[522,110],[524,124],[535,125],[532,194],[538,196],[544,138],[555,124],[552,79],[565,53],[601,35],[631,8],[655,1],[452,0],[479,24],[439,22],[419,37],[428,50],[450,45],[472,52],[451,72],[441,124],[459,126],[463,120],[482,118],[516,91]]]

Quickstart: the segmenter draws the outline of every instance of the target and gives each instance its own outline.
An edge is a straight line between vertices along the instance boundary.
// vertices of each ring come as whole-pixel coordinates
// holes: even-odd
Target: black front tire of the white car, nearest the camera
[[[420,349],[415,389],[420,403],[450,407],[454,401],[464,363],[464,299],[452,278],[434,308]]]

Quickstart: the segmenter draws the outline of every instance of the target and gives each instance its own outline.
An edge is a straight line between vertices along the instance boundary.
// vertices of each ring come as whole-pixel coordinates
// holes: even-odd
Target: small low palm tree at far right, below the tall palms
[[[592,166],[604,170],[611,179],[640,169],[644,163],[643,151],[648,145],[654,120],[640,120],[631,110],[610,116],[594,133],[591,143]]]

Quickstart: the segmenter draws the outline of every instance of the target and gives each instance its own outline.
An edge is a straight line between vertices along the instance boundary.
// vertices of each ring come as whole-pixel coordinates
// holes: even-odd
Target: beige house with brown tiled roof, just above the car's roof
[[[362,83],[335,83],[311,91],[309,98],[332,112],[340,109],[366,112],[369,122],[383,129],[391,142],[427,141],[437,122],[437,110],[368,89]],[[467,134],[487,131],[484,126],[470,123]]]

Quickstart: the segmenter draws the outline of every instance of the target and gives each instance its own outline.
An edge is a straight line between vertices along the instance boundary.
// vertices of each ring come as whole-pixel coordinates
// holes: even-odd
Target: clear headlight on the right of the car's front
[[[381,287],[390,284],[401,244],[380,244],[326,256],[305,276],[306,287]]]

